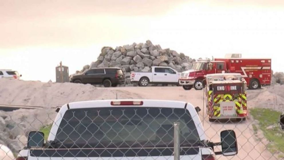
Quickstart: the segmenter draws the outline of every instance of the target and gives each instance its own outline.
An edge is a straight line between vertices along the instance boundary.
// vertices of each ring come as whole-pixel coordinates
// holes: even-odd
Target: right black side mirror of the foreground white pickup
[[[224,156],[238,154],[238,144],[234,130],[223,130],[220,133],[222,153]]]

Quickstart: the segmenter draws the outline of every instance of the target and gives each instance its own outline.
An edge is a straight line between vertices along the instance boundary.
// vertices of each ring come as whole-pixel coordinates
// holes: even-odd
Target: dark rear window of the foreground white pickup
[[[196,126],[184,108],[108,107],[67,110],[54,147],[173,147],[173,122],[181,123],[182,146],[200,146]]]

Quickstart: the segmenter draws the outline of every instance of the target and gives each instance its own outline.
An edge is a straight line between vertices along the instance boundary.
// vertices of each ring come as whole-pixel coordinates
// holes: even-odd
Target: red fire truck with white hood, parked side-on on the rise
[[[193,63],[191,70],[184,71],[180,77],[180,85],[185,90],[192,87],[202,89],[202,81],[207,74],[240,73],[249,89],[258,89],[261,85],[271,84],[271,58],[241,58],[241,54],[226,55],[227,58],[201,60]]]

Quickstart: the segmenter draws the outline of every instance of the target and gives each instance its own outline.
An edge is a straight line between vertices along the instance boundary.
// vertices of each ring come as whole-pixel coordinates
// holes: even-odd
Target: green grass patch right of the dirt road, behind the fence
[[[259,128],[262,130],[265,138],[270,142],[267,145],[269,151],[273,154],[278,151],[284,153],[284,132],[279,129],[279,117],[281,112],[277,112],[266,108],[253,108],[250,110],[255,120],[259,121]],[[254,132],[257,127],[253,125]]]

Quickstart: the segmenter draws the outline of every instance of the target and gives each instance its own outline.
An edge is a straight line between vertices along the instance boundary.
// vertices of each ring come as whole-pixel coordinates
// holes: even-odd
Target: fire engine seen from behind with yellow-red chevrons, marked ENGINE
[[[210,122],[224,118],[246,119],[246,81],[240,73],[208,74],[204,91]]]

